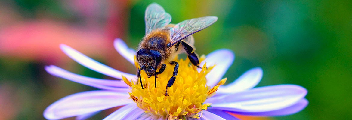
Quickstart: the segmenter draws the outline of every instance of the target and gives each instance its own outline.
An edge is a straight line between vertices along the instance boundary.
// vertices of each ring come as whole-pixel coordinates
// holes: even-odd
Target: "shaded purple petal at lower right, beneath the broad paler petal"
[[[290,107],[286,107],[283,109],[279,109],[276,111],[268,111],[268,112],[232,112],[235,114],[242,114],[242,115],[253,115],[253,116],[282,116],[282,115],[290,115],[295,114],[297,112],[302,111],[302,109],[306,108],[308,105],[308,100],[303,98],[298,101],[295,105]],[[231,112],[231,111],[230,111]]]

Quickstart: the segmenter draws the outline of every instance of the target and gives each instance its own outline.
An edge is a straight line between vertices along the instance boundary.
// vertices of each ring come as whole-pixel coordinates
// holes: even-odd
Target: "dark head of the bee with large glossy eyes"
[[[158,51],[140,49],[137,52],[137,61],[140,67],[143,67],[143,71],[150,78],[155,72],[157,67],[161,64],[162,56]]]

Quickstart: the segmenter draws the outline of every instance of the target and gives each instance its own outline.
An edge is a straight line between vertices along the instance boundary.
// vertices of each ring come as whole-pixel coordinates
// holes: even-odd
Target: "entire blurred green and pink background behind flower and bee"
[[[0,120],[44,120],[42,113],[52,102],[94,89],[51,76],[43,69],[46,65],[111,79],[70,60],[59,50],[61,43],[135,73],[134,66],[114,50],[113,40],[122,38],[136,48],[144,35],[145,8],[152,2],[171,14],[172,23],[218,16],[215,24],[194,34],[195,47],[199,54],[220,48],[234,51],[227,83],[259,66],[264,76],[258,86],[296,84],[308,89],[309,105],[301,112],[239,118],[352,118],[350,0],[1,0]]]

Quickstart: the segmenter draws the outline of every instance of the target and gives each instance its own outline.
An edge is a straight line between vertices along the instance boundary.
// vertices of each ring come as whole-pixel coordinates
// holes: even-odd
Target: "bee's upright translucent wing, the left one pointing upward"
[[[145,34],[154,29],[163,28],[171,22],[171,15],[156,3],[150,4],[145,10]]]

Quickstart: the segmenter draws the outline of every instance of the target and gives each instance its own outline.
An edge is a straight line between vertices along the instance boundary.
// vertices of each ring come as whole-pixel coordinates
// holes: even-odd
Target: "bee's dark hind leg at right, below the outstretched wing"
[[[188,45],[187,42],[184,41],[184,40],[181,40],[180,42],[181,42],[181,44],[182,44],[184,50],[185,50],[186,53],[187,53],[187,56],[188,56],[189,61],[191,61],[191,63],[192,63],[194,66],[197,66],[198,68],[200,68],[200,67],[199,67],[199,59],[198,59],[199,57],[198,57],[198,55],[194,52],[195,49],[194,49],[192,46]]]

